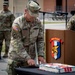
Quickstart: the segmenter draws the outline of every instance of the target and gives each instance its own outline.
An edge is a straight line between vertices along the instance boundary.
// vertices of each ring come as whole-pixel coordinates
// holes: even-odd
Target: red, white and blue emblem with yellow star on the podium
[[[51,55],[54,59],[58,59],[61,57],[61,43],[62,40],[60,38],[51,38]]]

